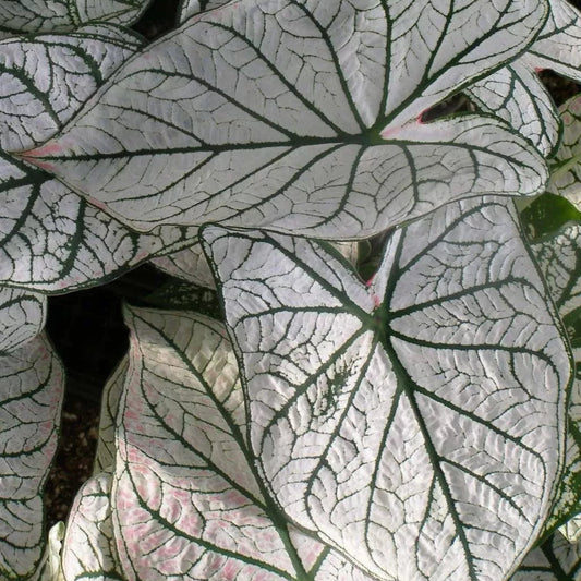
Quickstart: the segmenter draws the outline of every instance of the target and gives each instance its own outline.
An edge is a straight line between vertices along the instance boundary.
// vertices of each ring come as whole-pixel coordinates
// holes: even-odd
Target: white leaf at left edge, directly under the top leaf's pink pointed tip
[[[187,246],[197,233],[171,226],[131,232],[45,172],[1,152],[0,207],[0,282],[46,292],[104,282]]]

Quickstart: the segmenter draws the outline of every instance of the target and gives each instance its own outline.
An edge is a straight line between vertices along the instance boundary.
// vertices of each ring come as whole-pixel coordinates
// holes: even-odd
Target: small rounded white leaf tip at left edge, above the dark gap
[[[0,287],[0,355],[34,339],[43,330],[46,316],[46,296]]]

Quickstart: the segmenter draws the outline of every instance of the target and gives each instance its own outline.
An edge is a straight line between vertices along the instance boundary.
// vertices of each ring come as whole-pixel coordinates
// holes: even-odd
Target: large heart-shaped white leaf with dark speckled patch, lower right
[[[323,243],[201,235],[288,517],[379,579],[504,580],[552,506],[570,375],[512,205],[396,230],[370,287]]]

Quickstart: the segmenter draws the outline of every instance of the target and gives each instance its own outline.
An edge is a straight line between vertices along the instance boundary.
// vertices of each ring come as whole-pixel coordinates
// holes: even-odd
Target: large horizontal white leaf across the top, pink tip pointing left
[[[545,5],[483,0],[474,20],[445,4],[228,3],[130,59],[23,155],[138,230],[354,239],[461,197],[537,193],[544,160],[504,122],[421,113],[518,56]]]

